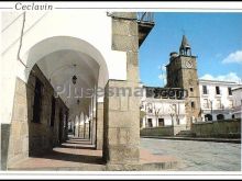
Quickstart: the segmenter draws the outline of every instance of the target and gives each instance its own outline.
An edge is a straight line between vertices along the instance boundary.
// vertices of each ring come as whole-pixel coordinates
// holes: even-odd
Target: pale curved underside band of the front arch
[[[103,56],[88,42],[72,36],[53,36],[34,44],[23,58],[28,67],[24,71],[25,81],[28,81],[31,69],[40,59],[59,50],[73,50],[95,60],[100,66],[98,86],[105,88],[109,79],[109,70]]]

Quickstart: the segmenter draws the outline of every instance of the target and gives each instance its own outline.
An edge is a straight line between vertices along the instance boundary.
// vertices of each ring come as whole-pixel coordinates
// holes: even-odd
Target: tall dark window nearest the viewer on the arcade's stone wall
[[[42,82],[36,78],[34,88],[34,106],[33,106],[33,122],[41,122],[41,108],[42,108]]]

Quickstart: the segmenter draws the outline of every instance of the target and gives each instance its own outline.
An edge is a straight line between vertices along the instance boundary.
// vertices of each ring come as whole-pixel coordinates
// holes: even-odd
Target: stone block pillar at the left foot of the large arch
[[[16,161],[29,157],[29,139],[31,135],[30,132],[32,132],[29,125],[31,122],[30,114],[32,114],[30,109],[33,100],[31,99],[31,89],[19,78],[16,78],[15,82],[11,126],[6,126],[7,129],[1,133],[6,134],[1,136],[9,136],[9,138],[3,138],[2,142],[2,146],[8,146],[7,144],[9,144],[8,147],[2,149],[3,152],[8,150],[8,157],[2,157],[3,160],[7,159],[7,165],[3,165],[3,168],[7,167],[7,169]]]

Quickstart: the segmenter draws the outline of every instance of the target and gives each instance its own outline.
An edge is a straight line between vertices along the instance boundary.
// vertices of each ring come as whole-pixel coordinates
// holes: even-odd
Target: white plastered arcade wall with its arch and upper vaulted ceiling
[[[127,54],[111,49],[111,21],[106,10],[95,9],[2,12],[1,122],[11,122],[16,77],[28,82],[35,64],[54,88],[64,86],[61,98],[70,112],[76,102],[68,97],[74,71],[80,72],[76,75],[79,88],[105,88],[109,79],[125,80]],[[103,102],[103,98],[97,100]]]

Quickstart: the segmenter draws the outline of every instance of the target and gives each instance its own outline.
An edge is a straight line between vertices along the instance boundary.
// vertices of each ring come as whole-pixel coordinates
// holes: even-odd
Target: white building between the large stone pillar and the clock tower
[[[142,128],[187,124],[184,100],[147,98],[145,92],[141,99],[141,112]]]

